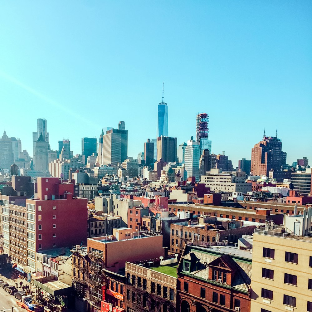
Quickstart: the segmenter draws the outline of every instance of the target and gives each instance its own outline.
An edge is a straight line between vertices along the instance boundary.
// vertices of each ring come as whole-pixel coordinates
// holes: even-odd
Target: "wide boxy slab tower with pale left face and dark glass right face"
[[[120,124],[120,123],[119,123]],[[111,129],[103,136],[103,165],[122,163],[128,154],[128,130]]]

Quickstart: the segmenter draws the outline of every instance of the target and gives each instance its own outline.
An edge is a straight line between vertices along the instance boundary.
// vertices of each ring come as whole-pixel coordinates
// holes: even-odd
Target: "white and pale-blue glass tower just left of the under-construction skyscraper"
[[[184,165],[186,178],[195,177],[195,181],[199,181],[199,158],[200,146],[197,141],[191,137],[188,145],[185,147]]]

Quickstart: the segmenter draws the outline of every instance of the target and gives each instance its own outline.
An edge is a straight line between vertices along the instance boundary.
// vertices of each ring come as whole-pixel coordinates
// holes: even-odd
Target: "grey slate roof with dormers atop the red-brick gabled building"
[[[190,246],[190,251],[185,249],[187,252],[182,259],[190,260],[190,261],[199,261],[197,262],[197,270],[191,271],[190,274],[195,278],[202,278],[204,280],[209,279],[209,263],[220,258],[220,257],[228,257],[222,253],[211,252],[208,249],[199,250],[199,248],[193,248],[194,246]],[[231,266],[233,265],[237,267],[237,270],[234,275],[234,279],[232,280],[232,288],[238,291],[248,291],[249,286],[251,284],[251,261],[249,259],[240,259],[237,257],[231,257],[233,260]],[[229,260],[225,258],[225,263],[228,263]],[[191,266],[192,268],[193,266]]]

